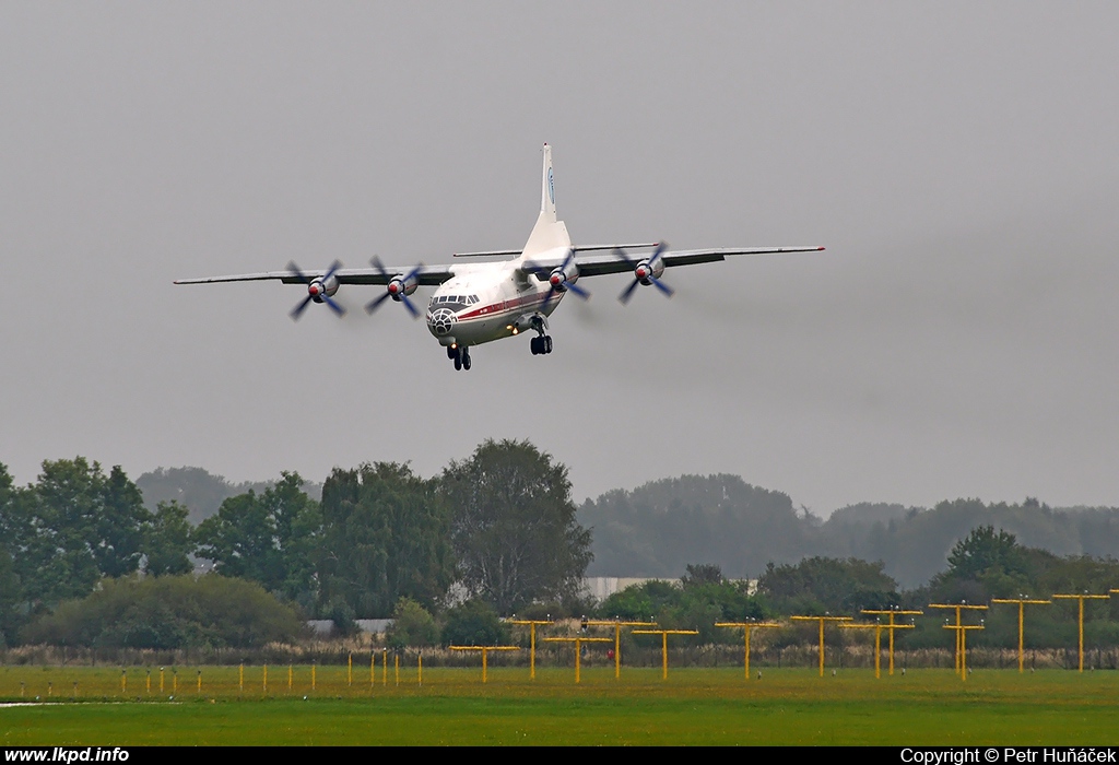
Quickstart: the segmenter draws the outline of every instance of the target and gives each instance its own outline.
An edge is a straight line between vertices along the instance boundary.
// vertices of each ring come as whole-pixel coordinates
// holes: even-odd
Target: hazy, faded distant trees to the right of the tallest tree
[[[994,526],[1057,556],[1119,555],[1119,508],[1051,508],[1034,498],[932,508],[863,502],[827,520],[780,491],[737,475],[683,475],[614,490],[580,507],[594,529],[592,576],[678,577],[688,564],[718,564],[727,576],[758,577],[768,564],[803,558],[881,560],[908,588],[942,572],[952,545]]]

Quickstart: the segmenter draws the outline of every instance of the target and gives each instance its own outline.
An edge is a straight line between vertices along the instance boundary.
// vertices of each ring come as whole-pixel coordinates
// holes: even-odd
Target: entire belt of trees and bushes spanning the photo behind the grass
[[[168,472],[156,478],[168,488]],[[145,506],[119,466],[106,473],[84,457],[48,461],[35,483],[17,487],[0,465],[0,638],[9,644],[241,645],[294,639],[308,617],[346,627],[393,616],[391,641],[434,644],[463,634],[497,640],[504,634],[498,614],[519,613],[652,618],[699,627],[702,640],[717,642],[730,638],[714,630],[715,621],[855,615],[1119,586],[1112,557],[1046,550],[1007,530],[1032,529],[1037,538],[1040,529],[1075,516],[1035,500],[959,500],[932,510],[852,506],[824,523],[794,509],[788,495],[737,476],[683,476],[610,492],[576,514],[566,468],[527,442],[487,441],[430,479],[407,465],[373,463],[335,469],[313,487],[283,473],[274,483],[239,489],[194,525],[190,508],[175,498],[190,492],[169,491],[163,495],[171,499]],[[210,501],[222,491],[211,482]],[[1079,516],[1078,533],[1094,530],[1094,549],[1113,549],[1106,545],[1112,522],[1106,510]],[[939,564],[915,586],[892,570],[896,563],[829,554],[904,550],[899,540],[916,536],[914,529],[947,546],[927,555]],[[798,555],[798,545],[814,538],[829,539],[830,547]],[[580,584],[596,551],[631,567],[652,559],[678,565],[684,575],[592,604]],[[765,561],[756,591],[741,574],[724,576],[744,555]],[[920,556],[911,550],[909,558]],[[198,560],[217,576],[187,576]],[[213,584],[219,579],[244,586]],[[466,604],[448,608],[452,601]],[[1062,608],[1038,616],[1036,640],[1068,644],[1074,626]],[[1111,626],[1119,608],[1112,608],[1092,610],[1091,640],[1119,642]],[[241,623],[237,614],[257,614],[272,626],[219,629]],[[993,632],[980,643],[1010,630],[1007,620],[993,615]],[[923,638],[908,640],[939,644],[940,624],[929,624],[919,631]]]

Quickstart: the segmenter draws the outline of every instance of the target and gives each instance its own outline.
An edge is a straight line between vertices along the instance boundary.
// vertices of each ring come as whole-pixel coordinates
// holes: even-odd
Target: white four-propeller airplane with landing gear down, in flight
[[[651,251],[638,259],[628,251]],[[579,284],[586,276],[630,272],[633,280],[619,300],[626,304],[638,286],[652,286],[666,296],[673,289],[661,281],[666,268],[713,263],[731,255],[769,255],[806,253],[824,247],[731,247],[717,249],[669,251],[664,243],[621,245],[572,244],[567,227],[556,217],[555,179],[552,170],[552,147],[544,144],[544,168],[540,182],[540,211],[528,240],[520,249],[497,249],[479,253],[455,253],[453,257],[502,257],[502,261],[470,262],[451,265],[386,267],[374,256],[372,268],[344,268],[335,261],[325,271],[301,271],[294,262],[286,271],[258,274],[184,278],[176,284],[210,284],[215,282],[253,282],[273,280],[283,284],[303,284],[307,296],[291,311],[299,319],[311,303],[326,304],[338,315],[346,309],[333,300],[342,284],[373,284],[385,292],[366,304],[373,313],[386,301],[401,303],[413,319],[420,310],[410,296],[421,286],[435,286],[427,304],[427,329],[455,369],[470,369],[470,349],[486,342],[536,334],[529,341],[533,356],[552,352],[552,336],[547,333],[548,317],[568,293],[586,300],[590,294]]]

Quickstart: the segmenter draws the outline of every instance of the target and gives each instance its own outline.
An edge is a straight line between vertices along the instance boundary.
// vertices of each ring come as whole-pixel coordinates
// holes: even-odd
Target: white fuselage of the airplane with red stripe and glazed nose
[[[528,330],[545,320],[566,294],[520,271],[521,258],[457,270],[427,305],[429,331],[442,346],[478,346]],[[545,302],[546,301],[546,302]]]

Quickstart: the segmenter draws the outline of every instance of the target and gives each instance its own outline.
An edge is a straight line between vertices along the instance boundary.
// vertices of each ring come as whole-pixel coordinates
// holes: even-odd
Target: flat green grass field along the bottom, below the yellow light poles
[[[369,745],[369,744],[807,744],[807,745],[1116,745],[1119,672],[1063,670],[1018,674],[976,671],[961,682],[950,670],[911,670],[874,679],[846,670],[546,669],[535,681],[523,668],[481,670],[261,667],[178,672],[68,667],[0,669],[0,699],[34,702],[0,708],[4,745]],[[74,682],[77,682],[75,695]],[[20,687],[22,683],[22,688]],[[48,696],[48,683],[49,693]],[[22,693],[22,696],[21,696]],[[304,696],[307,697],[304,700]],[[44,703],[48,702],[49,703]]]

